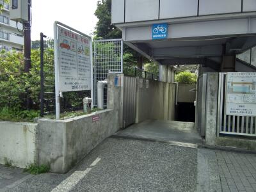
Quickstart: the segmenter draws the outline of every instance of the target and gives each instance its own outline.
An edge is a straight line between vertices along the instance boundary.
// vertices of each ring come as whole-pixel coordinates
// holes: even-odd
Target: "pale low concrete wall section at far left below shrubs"
[[[0,163],[25,168],[36,162],[37,124],[0,122]]]

